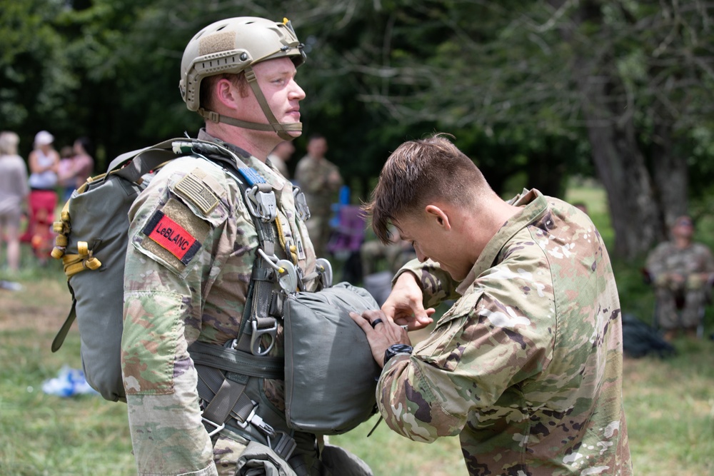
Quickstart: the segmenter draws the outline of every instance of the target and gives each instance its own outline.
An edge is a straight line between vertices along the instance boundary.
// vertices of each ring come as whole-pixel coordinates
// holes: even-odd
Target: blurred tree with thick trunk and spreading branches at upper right
[[[362,100],[399,121],[468,127],[496,134],[499,143],[517,137],[521,154],[506,149],[498,166],[508,169],[525,156],[531,184],[550,193],[558,186],[548,178],[557,182],[571,166],[582,167],[589,149],[608,191],[615,253],[623,257],[665,238],[668,222],[688,208],[688,171],[702,170],[690,159],[711,143],[700,125],[714,103],[712,4],[381,6],[393,19],[383,29],[381,54],[361,49],[361,56],[346,56],[346,68],[373,86]]]

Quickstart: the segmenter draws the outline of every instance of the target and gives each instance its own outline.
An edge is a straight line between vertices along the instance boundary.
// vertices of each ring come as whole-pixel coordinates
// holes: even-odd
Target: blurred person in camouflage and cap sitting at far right
[[[660,243],[645,264],[655,285],[655,319],[665,340],[673,340],[680,330],[697,335],[708,290],[714,279],[714,258],[703,243],[693,241],[694,221],[678,217],[670,228],[671,239]],[[677,300],[682,302],[677,312]]]

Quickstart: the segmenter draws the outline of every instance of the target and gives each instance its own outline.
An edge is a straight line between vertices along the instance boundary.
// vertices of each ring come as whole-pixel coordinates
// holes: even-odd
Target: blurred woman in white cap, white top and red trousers
[[[51,226],[57,206],[57,171],[59,153],[54,149],[54,136],[47,131],[35,135],[34,150],[29,156],[30,216],[22,240],[29,241],[40,263],[46,263],[52,249]]]

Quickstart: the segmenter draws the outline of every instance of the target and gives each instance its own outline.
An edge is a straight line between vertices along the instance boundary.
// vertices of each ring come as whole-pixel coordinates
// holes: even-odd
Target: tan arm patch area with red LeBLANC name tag
[[[170,198],[144,226],[141,245],[181,273],[201,249],[209,229],[208,223],[190,208]]]

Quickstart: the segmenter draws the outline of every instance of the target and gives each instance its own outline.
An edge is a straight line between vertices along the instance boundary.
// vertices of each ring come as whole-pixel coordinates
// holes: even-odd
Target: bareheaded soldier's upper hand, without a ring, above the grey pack
[[[406,325],[408,330],[419,330],[433,323],[434,308],[424,309],[424,293],[413,273],[402,273],[397,278],[392,292],[382,305],[382,311],[398,325]]]

